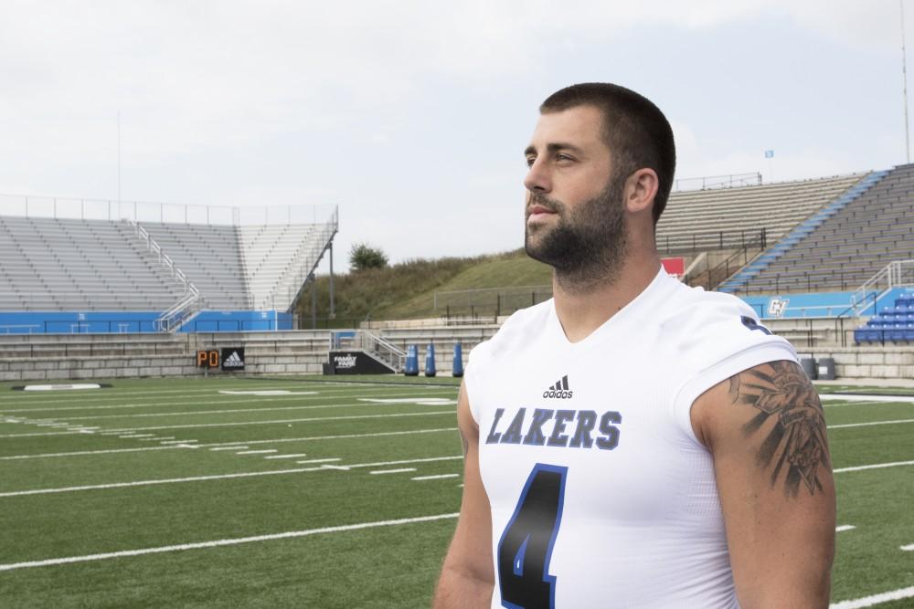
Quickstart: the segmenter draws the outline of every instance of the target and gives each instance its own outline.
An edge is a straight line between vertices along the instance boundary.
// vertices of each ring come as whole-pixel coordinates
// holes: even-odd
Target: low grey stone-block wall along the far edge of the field
[[[440,375],[452,370],[453,345],[462,345],[463,364],[497,326],[407,328],[378,332],[404,349],[415,344],[420,373],[428,345],[435,345]],[[0,381],[58,381],[143,376],[202,376],[197,352],[245,350],[245,374],[320,374],[328,362],[330,331],[199,332],[185,334],[0,335]],[[849,346],[803,348],[801,357],[833,358],[840,379],[914,378],[914,347]],[[219,370],[209,374],[230,374]]]

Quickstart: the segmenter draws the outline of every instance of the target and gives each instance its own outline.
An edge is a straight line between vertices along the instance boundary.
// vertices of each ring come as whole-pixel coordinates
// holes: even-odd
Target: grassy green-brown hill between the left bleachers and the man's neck
[[[435,293],[544,286],[551,281],[552,269],[526,257],[522,249],[492,256],[409,260],[388,268],[335,276],[338,322],[334,325],[351,326],[365,319],[439,317],[443,310],[434,309]],[[317,318],[320,320],[329,313],[329,285],[328,276],[317,278]],[[488,296],[494,299],[494,294]],[[311,319],[310,294],[302,300],[299,314],[305,320]],[[451,300],[456,310],[458,299]]]

